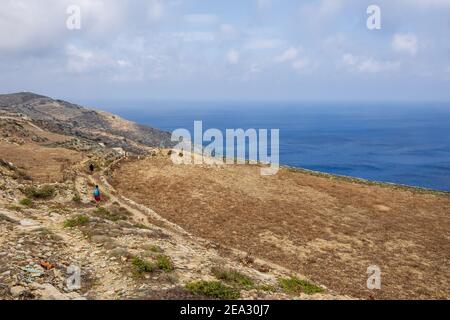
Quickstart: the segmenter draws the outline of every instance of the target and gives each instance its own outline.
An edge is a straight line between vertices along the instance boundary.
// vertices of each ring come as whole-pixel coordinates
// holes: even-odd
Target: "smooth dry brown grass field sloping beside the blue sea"
[[[450,298],[450,197],[282,169],[123,163],[111,181],[188,231],[359,298]],[[382,289],[366,288],[378,265]]]

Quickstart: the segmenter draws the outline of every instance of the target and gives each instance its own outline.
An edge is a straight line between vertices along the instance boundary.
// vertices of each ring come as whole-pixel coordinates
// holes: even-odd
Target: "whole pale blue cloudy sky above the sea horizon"
[[[449,57],[450,0],[0,0],[0,92],[450,101]]]

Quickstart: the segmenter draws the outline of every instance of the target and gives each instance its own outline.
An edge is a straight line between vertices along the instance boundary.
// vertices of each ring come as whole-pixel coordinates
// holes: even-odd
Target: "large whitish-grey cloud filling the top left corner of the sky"
[[[82,29],[78,33],[66,28],[69,5],[81,9]],[[0,50],[33,53],[36,49],[64,48],[68,35],[104,40],[120,28],[127,14],[121,0],[2,0]]]

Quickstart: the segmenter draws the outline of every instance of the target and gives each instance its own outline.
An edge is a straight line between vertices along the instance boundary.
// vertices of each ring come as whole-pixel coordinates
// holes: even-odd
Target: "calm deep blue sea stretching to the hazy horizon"
[[[280,129],[282,164],[450,191],[449,104],[89,104],[168,131]]]

